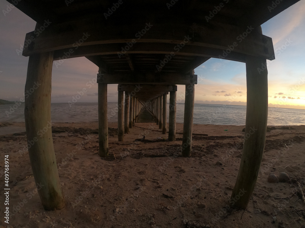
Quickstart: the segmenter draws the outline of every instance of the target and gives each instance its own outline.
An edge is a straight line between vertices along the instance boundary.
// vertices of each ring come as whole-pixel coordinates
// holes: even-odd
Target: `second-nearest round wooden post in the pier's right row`
[[[195,85],[185,85],[184,122],[182,136],[182,156],[190,157],[192,150],[192,126],[194,112]]]

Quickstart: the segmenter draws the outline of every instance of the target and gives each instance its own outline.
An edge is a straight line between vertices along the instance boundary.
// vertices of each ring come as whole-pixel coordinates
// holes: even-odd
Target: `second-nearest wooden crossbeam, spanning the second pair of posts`
[[[99,74],[98,83],[107,84],[197,84],[196,74],[135,72],[120,74]]]

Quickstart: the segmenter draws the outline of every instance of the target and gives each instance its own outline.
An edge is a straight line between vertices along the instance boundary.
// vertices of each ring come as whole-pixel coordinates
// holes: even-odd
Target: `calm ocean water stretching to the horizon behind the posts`
[[[167,104],[168,122],[169,104]],[[51,104],[52,122],[95,122],[98,121],[97,103]],[[183,123],[184,104],[177,104],[176,121]],[[108,121],[117,122],[117,103],[108,103]],[[24,122],[24,104],[0,105],[0,122]],[[194,105],[194,124],[245,125],[246,106],[239,105]],[[303,125],[305,110],[268,108],[268,125]]]

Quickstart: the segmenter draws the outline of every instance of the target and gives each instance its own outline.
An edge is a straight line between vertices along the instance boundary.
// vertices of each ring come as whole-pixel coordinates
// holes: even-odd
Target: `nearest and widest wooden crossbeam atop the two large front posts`
[[[141,20],[142,23],[140,23]],[[41,33],[39,36],[36,36],[34,31],[27,33],[26,40],[34,37],[35,42],[31,45],[24,45],[23,55],[29,56],[46,51],[55,51],[54,59],[56,60],[57,58],[65,59],[89,55],[117,55],[118,53],[119,57],[121,57],[120,53],[122,48],[127,45],[126,42],[134,42],[135,33],[143,29],[142,26],[146,22],[146,17],[139,18],[137,23],[126,26],[118,23],[105,23],[104,19],[96,16],[92,18],[88,16],[86,20],[83,17],[75,18],[71,22],[64,21],[63,23],[54,24],[48,29],[47,33]],[[67,27],[74,29],[68,30]],[[231,50],[228,58],[237,54],[236,58],[241,58],[242,55],[251,55],[274,59],[271,38],[264,35],[252,36],[250,30],[248,29],[246,38],[239,42],[236,37],[246,33],[246,30],[225,23],[211,24],[204,22],[194,25],[193,22],[178,22],[174,20],[168,23],[156,22],[149,33],[136,40],[137,43],[125,54],[155,53],[170,55],[177,49],[177,45],[184,43],[185,46],[178,52],[176,51],[176,53],[206,54],[206,57],[218,58],[224,50],[235,42],[237,45],[233,46],[234,49]],[[164,33],[164,31],[175,32]],[[160,34],[164,35],[160,36]],[[206,34],[209,35],[207,36]],[[82,40],[77,49],[75,40]],[[124,56],[123,54],[121,55]]]

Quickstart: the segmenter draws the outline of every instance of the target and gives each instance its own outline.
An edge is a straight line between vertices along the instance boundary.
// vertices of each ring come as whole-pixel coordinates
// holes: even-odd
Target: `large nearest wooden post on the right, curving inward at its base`
[[[247,57],[247,111],[246,130],[237,180],[230,204],[246,209],[252,196],[262,161],[268,116],[268,71],[258,71],[267,66],[266,59]]]

